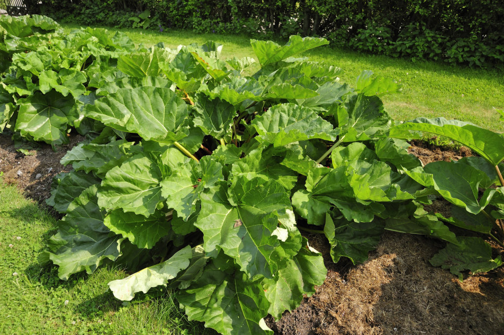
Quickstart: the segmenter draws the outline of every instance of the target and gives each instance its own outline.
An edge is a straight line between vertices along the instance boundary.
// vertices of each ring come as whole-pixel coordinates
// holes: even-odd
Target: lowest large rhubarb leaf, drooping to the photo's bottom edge
[[[208,265],[201,277],[176,297],[190,320],[205,322],[205,327],[221,334],[273,334],[263,319],[269,302],[260,281],[249,281],[239,271],[229,275]]]

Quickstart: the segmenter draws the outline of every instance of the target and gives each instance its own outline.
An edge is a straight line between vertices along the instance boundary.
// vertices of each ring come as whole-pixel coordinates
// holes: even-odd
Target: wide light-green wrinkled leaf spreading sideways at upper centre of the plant
[[[338,129],[309,108],[294,104],[280,104],[252,121],[262,143],[285,146],[289,143],[312,138],[329,141],[336,139]]]

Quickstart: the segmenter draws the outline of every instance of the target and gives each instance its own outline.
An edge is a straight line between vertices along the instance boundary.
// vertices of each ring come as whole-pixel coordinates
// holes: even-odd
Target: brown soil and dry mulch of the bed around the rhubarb
[[[75,136],[70,145],[56,151],[42,145],[30,151],[34,155],[25,156],[10,138],[0,135],[0,171],[27,197],[44,203],[52,177],[70,170],[59,160],[82,139]],[[472,155],[467,148],[429,148],[421,142],[413,142],[410,152],[424,164]],[[447,207],[435,202],[429,210],[443,213]],[[308,237],[322,252],[328,276],[299,308],[285,312],[277,322],[267,319],[277,334],[504,334],[504,267],[460,283],[450,272],[428,263],[442,242],[394,232],[382,236],[364,264],[353,266],[346,259],[334,264],[325,238]]]

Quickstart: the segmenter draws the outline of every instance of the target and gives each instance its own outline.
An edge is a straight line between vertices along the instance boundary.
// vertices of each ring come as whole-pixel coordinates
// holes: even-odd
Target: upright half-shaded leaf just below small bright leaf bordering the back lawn
[[[380,98],[363,94],[351,95],[344,108],[338,110],[338,127],[345,142],[373,138],[376,133],[385,132],[390,120]]]

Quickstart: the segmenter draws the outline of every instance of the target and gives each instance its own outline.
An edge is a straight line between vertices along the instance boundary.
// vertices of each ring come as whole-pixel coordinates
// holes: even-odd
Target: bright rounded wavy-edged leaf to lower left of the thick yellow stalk
[[[161,180],[157,161],[137,154],[107,172],[98,190],[98,205],[148,217],[162,200]]]

